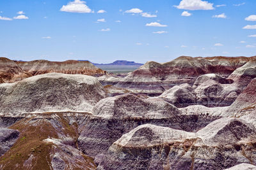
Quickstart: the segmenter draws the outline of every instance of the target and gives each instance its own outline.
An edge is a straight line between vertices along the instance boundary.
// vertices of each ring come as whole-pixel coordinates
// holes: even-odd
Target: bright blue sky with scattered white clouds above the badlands
[[[256,1],[0,1],[2,57],[144,63],[180,55],[256,55]]]

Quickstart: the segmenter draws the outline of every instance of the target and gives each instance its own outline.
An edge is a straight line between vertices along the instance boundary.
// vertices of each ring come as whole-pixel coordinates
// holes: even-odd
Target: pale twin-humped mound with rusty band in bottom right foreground
[[[225,169],[256,161],[256,129],[239,118],[221,118],[192,133],[140,125],[95,158],[97,169]]]

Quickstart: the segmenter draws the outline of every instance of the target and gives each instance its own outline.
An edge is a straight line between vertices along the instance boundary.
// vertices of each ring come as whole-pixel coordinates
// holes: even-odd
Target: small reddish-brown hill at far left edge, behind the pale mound
[[[12,83],[29,76],[32,74],[23,71],[13,60],[0,57],[0,83]]]

